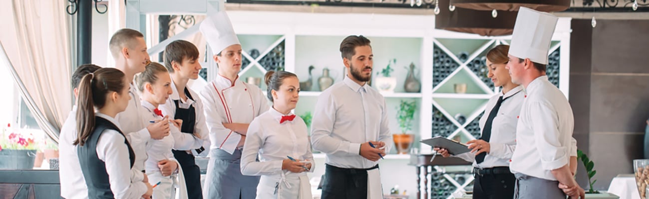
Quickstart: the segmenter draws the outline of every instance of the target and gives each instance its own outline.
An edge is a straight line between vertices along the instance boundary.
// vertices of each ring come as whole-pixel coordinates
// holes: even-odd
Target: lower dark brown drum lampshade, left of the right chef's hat
[[[448,7],[448,0],[437,0],[438,7]],[[435,28],[454,32],[466,32],[481,36],[503,36],[513,32],[517,11],[499,11],[493,17],[492,10],[471,10],[456,7],[452,12],[441,9],[435,16]],[[489,17],[491,16],[491,17]]]

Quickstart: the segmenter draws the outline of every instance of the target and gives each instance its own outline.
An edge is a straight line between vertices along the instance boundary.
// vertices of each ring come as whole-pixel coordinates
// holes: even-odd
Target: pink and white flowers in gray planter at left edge
[[[23,134],[7,124],[0,137],[0,169],[32,169],[38,144],[33,134]]]

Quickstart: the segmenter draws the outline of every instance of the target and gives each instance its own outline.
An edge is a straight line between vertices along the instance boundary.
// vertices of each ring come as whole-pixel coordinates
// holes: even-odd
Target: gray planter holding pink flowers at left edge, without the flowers
[[[0,151],[0,169],[34,169],[36,150],[3,149]]]

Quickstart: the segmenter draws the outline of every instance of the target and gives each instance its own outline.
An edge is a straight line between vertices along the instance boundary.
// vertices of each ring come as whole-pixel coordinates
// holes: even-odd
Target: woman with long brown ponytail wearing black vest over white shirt
[[[151,198],[153,189],[145,174],[132,169],[135,154],[115,120],[129,100],[129,82],[115,68],[101,68],[80,81],[73,144],[88,198]]]

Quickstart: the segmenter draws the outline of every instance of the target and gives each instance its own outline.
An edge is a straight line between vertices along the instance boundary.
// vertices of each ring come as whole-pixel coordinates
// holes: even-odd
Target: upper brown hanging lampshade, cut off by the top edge
[[[450,4],[473,10],[517,11],[524,6],[541,12],[558,12],[568,9],[570,0],[450,0]]]

